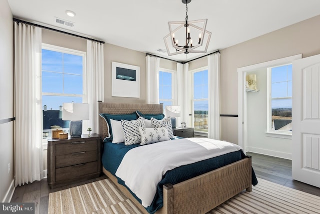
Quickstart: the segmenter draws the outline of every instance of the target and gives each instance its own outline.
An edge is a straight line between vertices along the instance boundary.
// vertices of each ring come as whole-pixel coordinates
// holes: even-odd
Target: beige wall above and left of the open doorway
[[[296,54],[320,54],[320,16],[220,50],[220,114],[237,112],[237,68]],[[237,143],[237,117],[221,117],[221,139]]]

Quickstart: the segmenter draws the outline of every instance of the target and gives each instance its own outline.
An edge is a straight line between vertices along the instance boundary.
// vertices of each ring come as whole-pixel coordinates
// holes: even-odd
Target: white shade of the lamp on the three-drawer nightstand
[[[88,120],[88,103],[63,103],[62,120]]]

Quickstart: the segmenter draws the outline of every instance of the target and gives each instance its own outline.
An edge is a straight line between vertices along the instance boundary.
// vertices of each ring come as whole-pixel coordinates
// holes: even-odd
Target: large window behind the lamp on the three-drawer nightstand
[[[50,137],[52,128],[68,131],[62,103],[86,100],[84,62],[84,52],[42,44],[43,138]]]

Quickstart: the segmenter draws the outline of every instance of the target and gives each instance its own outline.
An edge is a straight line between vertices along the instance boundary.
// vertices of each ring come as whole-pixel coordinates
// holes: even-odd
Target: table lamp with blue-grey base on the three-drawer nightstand
[[[88,103],[63,103],[62,120],[70,120],[70,137],[81,137],[82,120],[89,119]]]

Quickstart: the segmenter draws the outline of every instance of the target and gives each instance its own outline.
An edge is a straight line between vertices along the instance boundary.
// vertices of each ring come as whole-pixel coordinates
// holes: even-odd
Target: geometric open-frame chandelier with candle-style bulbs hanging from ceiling
[[[163,38],[168,56],[180,53],[206,53],[211,37],[211,33],[205,30],[207,19],[188,22],[187,4],[190,2],[191,0],[182,0],[182,3],[185,4],[185,21],[168,22],[170,33]],[[195,36],[195,41],[193,36]],[[183,38],[185,41],[180,43],[179,40]],[[204,49],[201,47],[203,42]],[[172,44],[173,49],[168,44]]]

